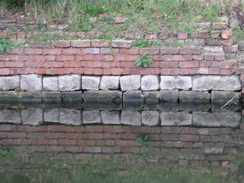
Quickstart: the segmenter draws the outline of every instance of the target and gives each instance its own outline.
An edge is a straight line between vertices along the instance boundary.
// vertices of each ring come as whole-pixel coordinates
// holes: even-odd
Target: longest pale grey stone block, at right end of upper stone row
[[[241,89],[238,76],[193,76],[193,90],[227,90]]]

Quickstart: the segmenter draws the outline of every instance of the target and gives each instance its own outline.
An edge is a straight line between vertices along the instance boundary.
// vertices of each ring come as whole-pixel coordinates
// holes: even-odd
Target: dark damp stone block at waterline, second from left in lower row
[[[19,102],[23,103],[41,103],[41,92],[23,92],[19,94]]]

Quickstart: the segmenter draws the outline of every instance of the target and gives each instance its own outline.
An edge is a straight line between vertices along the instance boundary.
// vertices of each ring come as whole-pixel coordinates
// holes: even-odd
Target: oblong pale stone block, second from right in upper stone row
[[[192,78],[190,76],[161,76],[161,90],[188,90],[190,88],[192,88]]]

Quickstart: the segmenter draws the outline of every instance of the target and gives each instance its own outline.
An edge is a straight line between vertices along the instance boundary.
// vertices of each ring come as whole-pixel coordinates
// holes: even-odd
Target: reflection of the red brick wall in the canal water
[[[134,153],[156,153],[146,162],[228,167],[243,143],[244,126],[232,128],[133,126],[1,125],[0,148],[28,152],[23,161],[57,159],[133,159]],[[154,142],[145,150],[136,139],[147,134]]]

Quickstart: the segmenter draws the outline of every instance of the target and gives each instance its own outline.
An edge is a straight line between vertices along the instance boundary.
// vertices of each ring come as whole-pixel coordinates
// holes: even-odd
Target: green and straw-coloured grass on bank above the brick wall
[[[96,30],[97,24],[103,25],[103,30],[118,27],[109,18],[107,22],[88,22],[89,17],[108,14],[130,17],[121,27],[128,32],[168,29],[190,33],[197,28],[196,22],[215,22],[243,7],[242,0],[1,0],[0,15],[17,9],[34,18],[44,17],[48,24],[69,24],[71,31],[90,31]]]

